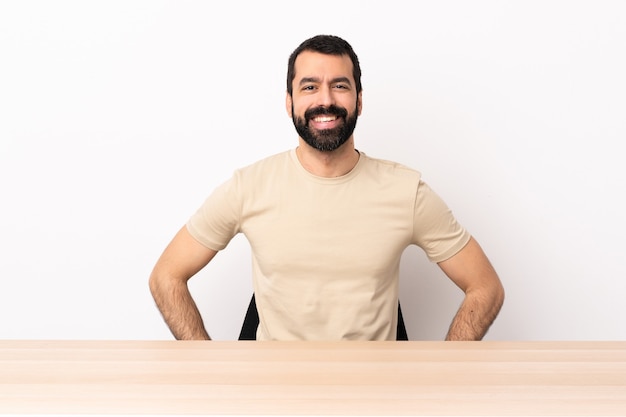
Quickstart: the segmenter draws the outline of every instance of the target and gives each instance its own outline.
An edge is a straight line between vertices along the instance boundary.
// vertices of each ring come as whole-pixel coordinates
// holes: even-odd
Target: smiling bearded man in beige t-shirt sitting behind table
[[[295,149],[237,170],[158,260],[150,289],[177,339],[207,339],[187,281],[237,234],[250,242],[259,340],[395,340],[400,258],[420,246],[465,293],[447,340],[480,340],[504,299],[472,236],[419,172],[354,145],[361,69],[336,36],[290,56]]]

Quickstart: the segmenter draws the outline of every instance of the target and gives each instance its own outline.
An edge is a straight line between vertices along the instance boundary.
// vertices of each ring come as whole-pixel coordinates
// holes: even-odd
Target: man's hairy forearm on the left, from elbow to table
[[[211,340],[186,282],[151,277],[150,291],[176,339]]]

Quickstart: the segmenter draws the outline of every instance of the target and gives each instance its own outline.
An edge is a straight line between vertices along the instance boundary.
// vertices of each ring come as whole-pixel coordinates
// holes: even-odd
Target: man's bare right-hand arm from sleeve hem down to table
[[[465,293],[446,340],[481,340],[504,302],[496,271],[474,238],[439,267]]]

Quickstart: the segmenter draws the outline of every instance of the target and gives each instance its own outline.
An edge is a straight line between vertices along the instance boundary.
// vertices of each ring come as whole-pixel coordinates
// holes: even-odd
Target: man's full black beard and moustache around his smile
[[[293,111],[293,104],[291,105],[291,114],[293,125],[296,128],[298,135],[311,147],[322,152],[332,152],[338,149],[341,145],[352,136],[356,127],[356,121],[358,118],[358,111],[355,106],[352,116],[348,116],[348,111],[343,107],[337,107],[330,105],[329,107],[316,107],[309,109],[304,113],[304,118],[298,117]],[[338,119],[343,119],[343,123],[332,129],[323,130],[311,130],[309,129],[309,120],[320,115],[332,115],[337,116]]]

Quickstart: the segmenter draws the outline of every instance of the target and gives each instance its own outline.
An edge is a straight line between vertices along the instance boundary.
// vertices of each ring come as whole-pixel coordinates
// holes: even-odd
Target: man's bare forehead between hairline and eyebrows
[[[347,77],[354,84],[352,61],[348,55],[327,55],[304,51],[296,58],[294,69],[294,83],[298,83],[302,78]]]

